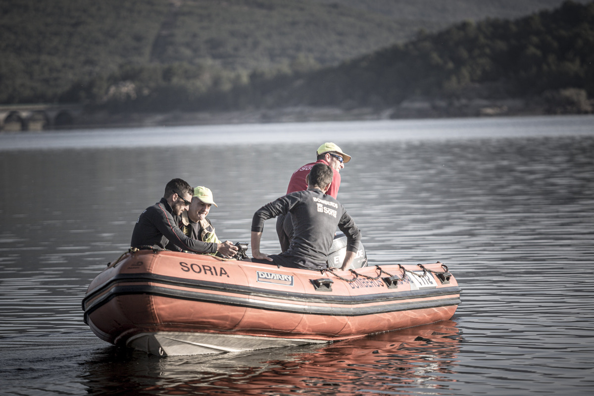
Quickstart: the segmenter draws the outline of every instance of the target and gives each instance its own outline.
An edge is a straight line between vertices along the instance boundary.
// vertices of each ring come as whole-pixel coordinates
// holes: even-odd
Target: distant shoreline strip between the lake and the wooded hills
[[[594,107],[594,106],[592,106]],[[569,110],[569,111],[568,111]],[[587,112],[585,112],[587,113]],[[527,100],[406,100],[399,106],[388,109],[359,107],[295,106],[280,109],[251,109],[204,112],[164,113],[109,113],[83,112],[71,125],[55,130],[100,129],[100,128],[143,128],[151,126],[223,125],[239,123],[284,123],[284,122],[331,122],[372,121],[382,119],[426,119],[426,118],[475,118],[497,116],[538,116],[584,114],[583,111],[550,108],[541,103]],[[1,132],[18,132],[18,126]],[[42,123],[30,123],[29,131],[41,131]],[[23,131],[26,132],[26,131]]]

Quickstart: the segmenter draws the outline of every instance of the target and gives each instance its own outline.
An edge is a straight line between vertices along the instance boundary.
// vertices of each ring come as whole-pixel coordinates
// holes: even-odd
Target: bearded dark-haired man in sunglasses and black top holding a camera
[[[237,252],[233,243],[203,242],[192,239],[179,229],[173,216],[181,216],[188,210],[194,189],[182,179],[172,179],[165,186],[163,198],[140,214],[132,231],[132,248],[155,246],[175,251],[193,253],[216,253],[229,258]],[[168,243],[171,242],[172,244]]]

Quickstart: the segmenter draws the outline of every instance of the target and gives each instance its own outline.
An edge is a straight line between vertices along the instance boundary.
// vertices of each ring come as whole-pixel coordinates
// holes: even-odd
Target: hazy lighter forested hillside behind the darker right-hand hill
[[[279,78],[301,78],[405,43],[419,30],[431,33],[453,21],[523,15],[560,3],[3,0],[0,103],[78,102],[147,111],[181,104],[195,109],[205,102],[241,107]]]

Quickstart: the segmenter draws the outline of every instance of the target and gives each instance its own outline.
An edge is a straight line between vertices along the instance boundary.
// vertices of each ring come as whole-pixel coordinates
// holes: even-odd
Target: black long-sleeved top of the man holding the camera
[[[171,241],[175,246],[169,245],[168,248],[172,250],[177,248],[178,251],[216,253],[216,243],[202,242],[184,235],[173,220],[172,213],[173,209],[165,198],[146,208],[136,221],[130,246],[157,246],[165,249]]]

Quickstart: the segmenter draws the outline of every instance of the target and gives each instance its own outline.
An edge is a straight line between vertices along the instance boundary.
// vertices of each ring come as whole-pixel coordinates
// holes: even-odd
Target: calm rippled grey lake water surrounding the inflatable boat
[[[83,323],[91,279],[168,180],[206,185],[223,239],[334,141],[371,264],[441,261],[451,321],[218,356],[116,349]],[[589,395],[594,117],[0,134],[2,395]],[[263,251],[279,249],[268,221]]]

